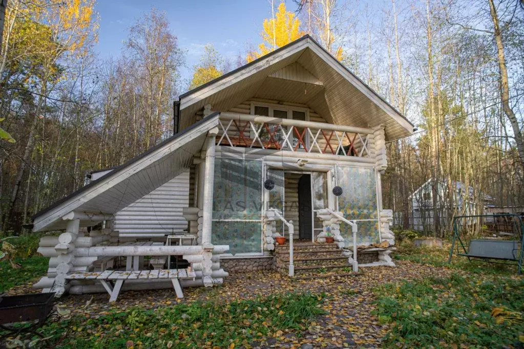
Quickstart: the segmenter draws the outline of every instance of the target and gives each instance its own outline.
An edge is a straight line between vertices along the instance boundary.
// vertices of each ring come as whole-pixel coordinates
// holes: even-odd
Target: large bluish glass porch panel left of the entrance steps
[[[262,250],[262,162],[215,159],[212,243],[228,253]]]

